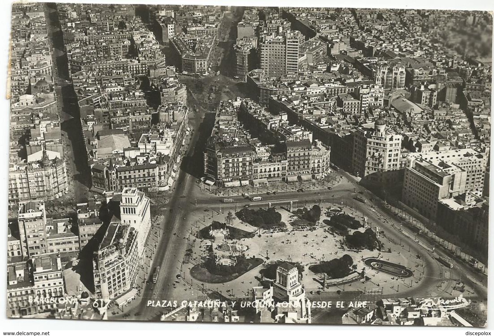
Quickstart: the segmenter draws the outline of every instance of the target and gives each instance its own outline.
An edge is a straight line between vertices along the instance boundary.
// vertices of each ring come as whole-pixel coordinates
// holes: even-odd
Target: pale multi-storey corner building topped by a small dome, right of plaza
[[[401,141],[401,135],[386,130],[382,118],[374,122],[373,129],[358,128],[354,132],[353,173],[364,178],[376,172],[398,170]]]

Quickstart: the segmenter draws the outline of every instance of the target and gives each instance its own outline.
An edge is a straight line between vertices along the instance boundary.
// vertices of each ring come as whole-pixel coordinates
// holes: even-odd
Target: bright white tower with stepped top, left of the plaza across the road
[[[137,188],[124,188],[120,202],[120,219],[137,230],[137,247],[139,257],[144,253],[151,230],[150,200],[144,192]]]

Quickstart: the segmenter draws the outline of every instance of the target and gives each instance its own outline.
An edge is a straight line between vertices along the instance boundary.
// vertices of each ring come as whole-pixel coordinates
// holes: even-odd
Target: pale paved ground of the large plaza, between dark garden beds
[[[308,206],[312,206],[312,204]],[[309,291],[323,290],[321,283],[318,281],[318,274],[310,271],[309,266],[317,264],[320,261],[329,261],[334,258],[339,258],[344,254],[348,254],[352,257],[354,264],[357,265],[357,271],[361,271],[365,267],[366,274],[371,278],[371,280],[367,283],[356,281],[351,284],[346,284],[345,286],[334,286],[326,289],[326,291],[337,291],[342,290],[343,288],[346,290],[364,291],[369,288],[382,287],[384,294],[392,294],[399,291],[400,287],[402,289],[412,288],[422,281],[423,278],[421,274],[424,271],[424,267],[422,266],[421,259],[418,259],[416,255],[409,252],[407,245],[400,245],[400,241],[391,241],[385,236],[381,236],[379,239],[386,247],[382,253],[377,250],[363,250],[359,252],[348,251],[346,248],[343,250],[340,244],[342,237],[332,235],[331,233],[325,231],[328,225],[322,223],[323,220],[329,219],[325,213],[327,209],[334,207],[334,204],[323,203],[321,204],[321,207],[323,214],[313,230],[309,230],[308,228],[300,229],[296,226],[292,227],[289,223],[293,221],[294,218],[290,218],[291,214],[287,210],[280,208],[277,208],[277,211],[281,213],[282,221],[287,224],[287,231],[283,232],[265,233],[263,232],[264,230],[259,230],[257,227],[243,223],[238,218],[235,218],[231,226],[246,230],[248,232],[255,232],[256,235],[253,238],[244,238],[240,241],[217,240],[213,243],[213,250],[215,250],[215,246],[219,244],[238,242],[247,246],[246,257],[262,258],[266,263],[278,260],[299,262],[303,264],[305,268],[302,284],[306,290]],[[212,223],[212,221],[225,222],[224,218],[228,211],[234,212],[234,210],[235,209],[232,210],[226,208],[222,209],[222,212],[219,213],[210,211],[206,212],[207,215],[203,215],[203,217],[206,217],[206,224]],[[356,219],[361,222],[363,221],[362,214],[356,213],[350,208],[345,207],[342,211],[356,217]],[[202,220],[200,223],[200,226],[198,226],[199,229],[204,227]],[[360,230],[363,231],[364,228],[361,228]],[[261,235],[260,237],[257,235],[259,232]],[[199,242],[199,244],[194,247],[193,258],[195,258],[197,262],[200,261],[200,257],[204,255],[206,251],[204,248],[201,248],[201,246],[204,245],[205,244],[203,241],[202,243]],[[391,249],[391,253],[387,252],[388,248]],[[394,262],[405,266],[413,271],[413,275],[408,279],[399,279],[384,272],[372,270],[364,264],[364,260],[371,257],[380,258],[383,261]],[[213,288],[218,291],[221,290],[222,292],[226,292],[228,290],[228,293],[231,293],[230,289],[235,288],[235,291],[237,291],[236,295],[243,296],[248,293],[248,290],[251,287],[259,285],[259,283],[255,280],[255,277],[260,276],[259,270],[262,268],[262,265],[258,266],[241,275],[239,278],[224,284],[210,285],[196,280],[193,280],[193,282],[198,283],[199,288],[203,288],[204,286],[204,288]],[[446,276],[448,276],[448,274],[446,274]],[[190,274],[187,271],[185,271],[185,278],[190,278]],[[445,286],[443,288],[445,288]],[[445,290],[438,288],[437,294],[444,295],[444,292]]]

